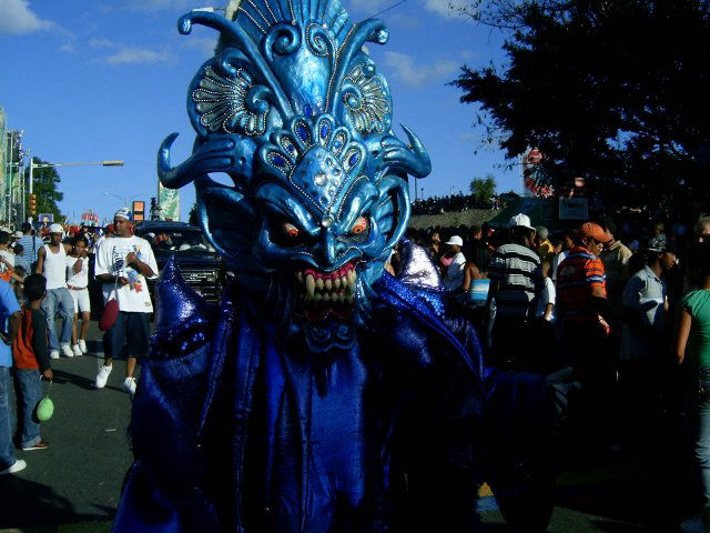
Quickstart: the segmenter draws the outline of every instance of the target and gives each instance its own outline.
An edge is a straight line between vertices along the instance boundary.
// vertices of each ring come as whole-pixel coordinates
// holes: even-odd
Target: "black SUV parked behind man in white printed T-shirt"
[[[141,222],[134,232],[151,244],[161,272],[170,257],[175,255],[185,282],[206,301],[220,300],[225,276],[222,259],[205,241],[200,228],[151,220]]]

